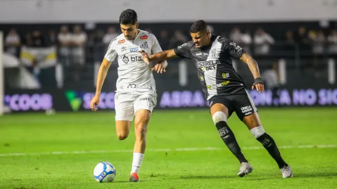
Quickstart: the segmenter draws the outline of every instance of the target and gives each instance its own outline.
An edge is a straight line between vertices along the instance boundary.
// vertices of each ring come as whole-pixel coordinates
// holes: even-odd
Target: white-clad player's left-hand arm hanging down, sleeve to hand
[[[107,73],[109,71],[111,62],[117,56],[116,51],[113,49],[113,41],[111,41],[108,47],[108,50],[107,50],[107,54],[105,54],[105,57],[103,58],[102,63],[100,64],[100,69],[98,69],[98,75],[97,75],[97,81],[96,81],[96,93],[95,93],[94,98],[92,98],[90,102],[90,109],[92,111],[97,111],[96,106],[100,103],[100,91],[102,91],[102,86],[103,86],[105,78],[107,77]]]

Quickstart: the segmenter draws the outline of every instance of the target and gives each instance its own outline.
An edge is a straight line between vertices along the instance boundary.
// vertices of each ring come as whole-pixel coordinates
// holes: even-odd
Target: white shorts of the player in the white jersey
[[[156,93],[118,91],[115,95],[116,121],[127,120],[132,122],[136,111],[139,109],[147,109],[152,113],[156,104]]]

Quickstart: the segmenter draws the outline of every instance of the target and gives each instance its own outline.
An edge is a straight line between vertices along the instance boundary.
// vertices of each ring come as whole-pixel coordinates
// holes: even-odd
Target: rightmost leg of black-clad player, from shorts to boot
[[[279,148],[276,146],[273,138],[265,133],[257,113],[257,108],[247,91],[246,95],[240,95],[240,97],[236,98],[235,107],[240,120],[246,124],[252,135],[265,147],[272,158],[275,159],[281,169],[283,177],[292,177],[292,170],[281,157]]]

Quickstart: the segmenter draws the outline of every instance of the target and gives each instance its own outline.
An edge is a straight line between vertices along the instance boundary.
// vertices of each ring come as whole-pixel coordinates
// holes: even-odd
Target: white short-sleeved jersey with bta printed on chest
[[[162,52],[157,38],[143,30],[139,30],[133,41],[128,41],[123,34],[111,41],[105,59],[112,62],[118,58],[117,91],[155,91],[151,67],[142,60],[141,49],[149,55]]]

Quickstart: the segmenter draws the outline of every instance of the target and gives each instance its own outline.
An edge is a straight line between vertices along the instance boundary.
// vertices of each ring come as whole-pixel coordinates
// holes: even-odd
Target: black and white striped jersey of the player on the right
[[[245,50],[221,36],[212,36],[210,45],[197,48],[193,41],[174,49],[175,54],[193,60],[207,100],[213,96],[246,93],[246,83],[232,66],[232,58],[240,58]]]

